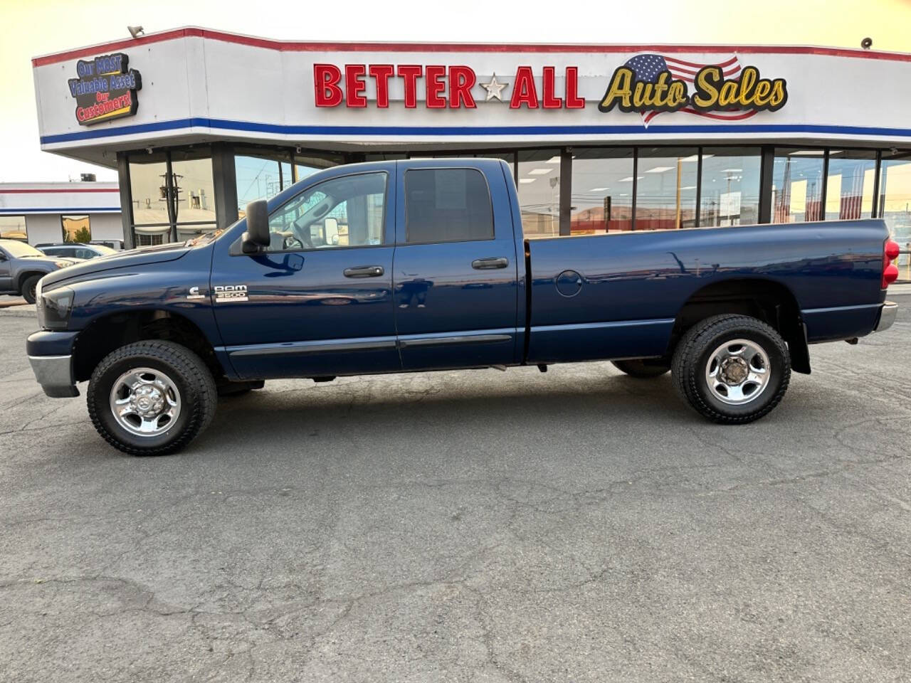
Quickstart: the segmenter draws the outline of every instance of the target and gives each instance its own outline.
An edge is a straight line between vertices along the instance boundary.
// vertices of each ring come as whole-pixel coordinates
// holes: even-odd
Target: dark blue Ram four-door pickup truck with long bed
[[[595,360],[747,423],[809,344],[892,324],[896,251],[880,220],[525,240],[505,162],[355,164],[220,234],[46,275],[27,352],[48,396],[88,381],[129,454],[177,451],[273,378]]]

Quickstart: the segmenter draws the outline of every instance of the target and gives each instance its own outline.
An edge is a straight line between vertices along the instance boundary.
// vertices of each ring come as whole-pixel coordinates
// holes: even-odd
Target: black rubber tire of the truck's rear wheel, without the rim
[[[751,342],[761,349],[770,367],[762,391],[756,392],[754,398],[746,395],[742,399],[744,403],[732,405],[711,390],[706,374],[716,350],[724,342],[737,340]],[[781,402],[791,380],[791,356],[781,335],[763,321],[746,315],[716,315],[698,322],[683,335],[674,351],[671,370],[677,392],[697,413],[716,423],[744,424],[770,413]],[[743,386],[749,384],[744,382]],[[727,391],[726,386],[720,386],[722,391]]]

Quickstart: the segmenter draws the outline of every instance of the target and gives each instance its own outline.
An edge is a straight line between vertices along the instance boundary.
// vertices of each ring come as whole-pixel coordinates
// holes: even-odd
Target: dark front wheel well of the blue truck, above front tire
[[[206,335],[189,318],[164,309],[117,311],[98,317],[80,331],[73,346],[73,372],[77,382],[91,377],[108,353],[132,342],[164,340],[179,343],[196,353],[212,376],[225,372]]]

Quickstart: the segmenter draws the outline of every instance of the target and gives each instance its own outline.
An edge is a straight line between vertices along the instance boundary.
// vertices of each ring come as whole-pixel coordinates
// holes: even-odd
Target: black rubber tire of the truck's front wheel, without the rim
[[[173,423],[163,425],[163,433],[131,433],[118,423],[111,410],[114,382],[136,368],[164,373],[179,392],[179,414]],[[92,372],[86,398],[88,415],[97,432],[118,451],[131,455],[176,453],[209,426],[218,403],[215,380],[205,362],[180,344],[159,340],[127,344],[108,353]]]

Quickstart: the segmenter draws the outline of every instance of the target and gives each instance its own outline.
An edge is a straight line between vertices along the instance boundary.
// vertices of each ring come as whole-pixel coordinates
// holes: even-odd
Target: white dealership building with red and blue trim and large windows
[[[320,168],[466,156],[507,161],[529,238],[872,217],[911,242],[907,54],[179,28],[33,68],[41,147],[117,168],[128,244],[224,228]]]

